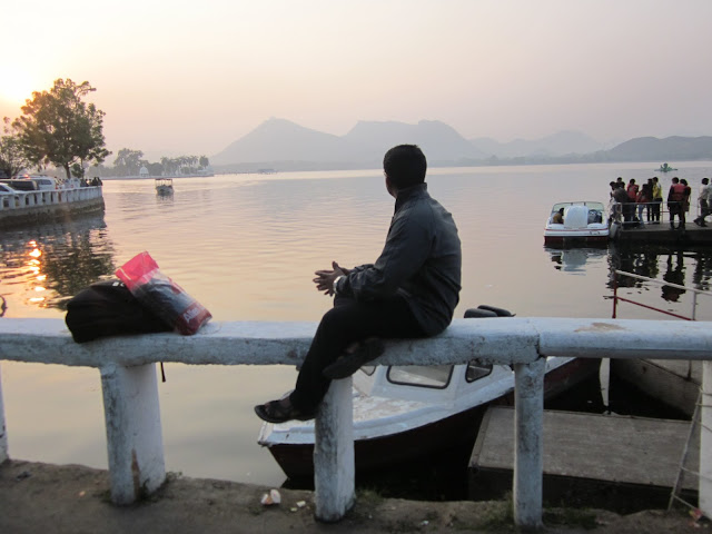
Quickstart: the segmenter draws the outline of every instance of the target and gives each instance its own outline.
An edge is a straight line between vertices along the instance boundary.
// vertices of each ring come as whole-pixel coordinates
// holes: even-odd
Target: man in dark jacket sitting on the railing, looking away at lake
[[[269,423],[315,417],[332,379],[346,378],[378,357],[384,338],[434,336],[459,300],[462,249],[452,215],[427,192],[427,161],[415,145],[388,150],[383,161],[395,214],[375,264],[317,270],[319,291],[334,296],[304,359],[296,387],[255,406]]]

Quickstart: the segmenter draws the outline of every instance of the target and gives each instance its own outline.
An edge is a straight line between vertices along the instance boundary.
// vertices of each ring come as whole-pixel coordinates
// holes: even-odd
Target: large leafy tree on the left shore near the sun
[[[88,81],[55,80],[49,91],[32,93],[22,106],[13,128],[31,165],[52,164],[65,169],[67,178],[85,175],[87,165],[101,164],[111,152],[103,138],[103,111],[83,101],[96,91]]]

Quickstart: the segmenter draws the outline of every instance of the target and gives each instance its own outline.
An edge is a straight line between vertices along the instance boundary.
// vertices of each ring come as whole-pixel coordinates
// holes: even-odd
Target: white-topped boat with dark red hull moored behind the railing
[[[547,397],[597,372],[599,360],[550,357]],[[487,405],[513,404],[508,366],[364,366],[354,375],[354,449],[357,472],[412,462],[474,444]],[[314,422],[265,423],[258,443],[290,479],[313,476]]]

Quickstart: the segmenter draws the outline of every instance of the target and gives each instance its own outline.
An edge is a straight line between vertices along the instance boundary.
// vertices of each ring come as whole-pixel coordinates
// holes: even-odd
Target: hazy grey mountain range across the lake
[[[437,120],[417,125],[359,121],[345,136],[271,118],[210,158],[216,171],[320,170],[374,168],[385,151],[399,144],[418,145],[428,165],[475,166],[586,161],[680,161],[712,159],[712,137],[641,137],[607,146],[577,131],[500,142],[465,139]]]

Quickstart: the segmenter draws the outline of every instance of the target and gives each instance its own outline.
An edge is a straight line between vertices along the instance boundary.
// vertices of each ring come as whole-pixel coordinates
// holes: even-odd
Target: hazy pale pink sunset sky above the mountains
[[[0,117],[57,78],[86,80],[115,152],[211,156],[270,117],[338,136],[422,119],[502,141],[712,135],[711,0],[32,0],[1,13]]]

